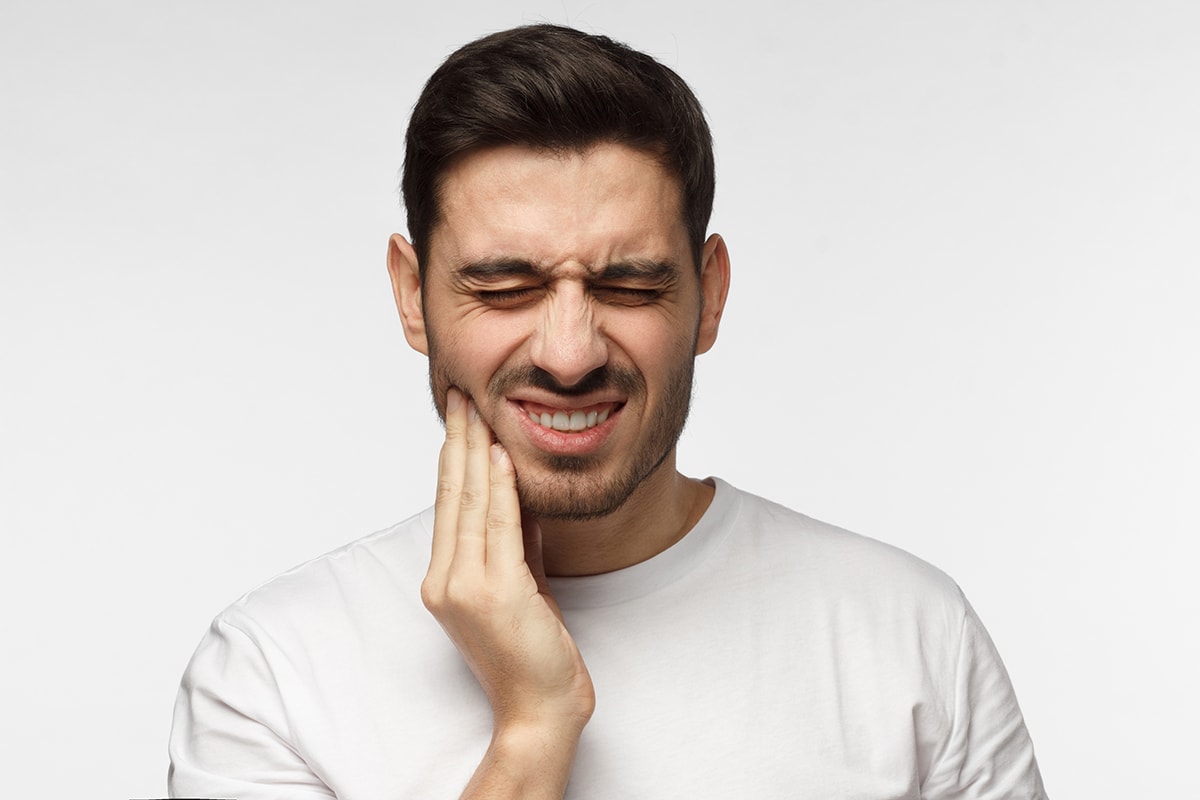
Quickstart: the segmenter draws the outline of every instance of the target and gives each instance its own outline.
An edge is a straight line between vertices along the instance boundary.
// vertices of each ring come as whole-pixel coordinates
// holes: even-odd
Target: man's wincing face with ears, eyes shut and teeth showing
[[[430,356],[439,411],[451,385],[473,398],[522,506],[594,518],[673,474],[727,283],[715,236],[696,273],[678,181],[624,145],[496,148],[446,173],[440,212],[424,288],[394,240],[406,335]]]

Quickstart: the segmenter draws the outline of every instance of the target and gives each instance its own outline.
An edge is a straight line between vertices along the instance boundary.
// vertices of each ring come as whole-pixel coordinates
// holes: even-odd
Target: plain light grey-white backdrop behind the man
[[[1192,796],[1200,6],[1166,0],[6,0],[5,794],[162,796],[209,620],[430,504],[403,130],[530,22],[712,119],[733,282],[684,471],[954,576],[1054,796]]]

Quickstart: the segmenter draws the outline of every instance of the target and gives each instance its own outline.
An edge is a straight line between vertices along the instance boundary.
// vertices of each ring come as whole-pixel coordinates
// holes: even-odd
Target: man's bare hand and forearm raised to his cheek
[[[492,705],[492,740],[463,798],[562,798],[595,694],[522,524],[512,462],[451,389],[433,548],[421,597]]]

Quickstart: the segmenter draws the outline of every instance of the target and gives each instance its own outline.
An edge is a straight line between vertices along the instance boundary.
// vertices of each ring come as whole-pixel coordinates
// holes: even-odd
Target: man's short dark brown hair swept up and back
[[[679,179],[698,270],[715,190],[700,101],[672,70],[607,36],[528,25],[456,50],[413,108],[401,190],[422,279],[442,178],[455,158],[502,144],[577,151],[600,142],[652,152]]]

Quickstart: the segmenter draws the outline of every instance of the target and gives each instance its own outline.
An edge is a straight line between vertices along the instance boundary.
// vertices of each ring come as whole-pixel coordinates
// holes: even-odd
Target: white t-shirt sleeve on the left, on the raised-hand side
[[[170,796],[334,798],[289,741],[288,717],[262,649],[218,616],[192,656],[175,702]]]

